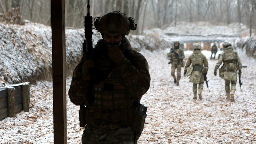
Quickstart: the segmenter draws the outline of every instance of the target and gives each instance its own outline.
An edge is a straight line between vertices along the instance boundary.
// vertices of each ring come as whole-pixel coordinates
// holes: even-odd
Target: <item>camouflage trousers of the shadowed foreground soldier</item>
[[[133,144],[131,126],[102,130],[87,125],[82,135],[82,144]]]

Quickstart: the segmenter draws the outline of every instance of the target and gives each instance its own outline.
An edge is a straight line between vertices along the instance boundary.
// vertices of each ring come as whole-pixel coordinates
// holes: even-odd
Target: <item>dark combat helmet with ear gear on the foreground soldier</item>
[[[132,17],[126,17],[120,11],[109,12],[102,17],[94,18],[94,27],[101,34],[127,35],[130,30],[136,30],[137,24]]]

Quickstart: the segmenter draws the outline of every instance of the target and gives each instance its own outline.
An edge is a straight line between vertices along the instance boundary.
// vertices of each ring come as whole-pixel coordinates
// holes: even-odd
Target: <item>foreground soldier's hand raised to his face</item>
[[[121,63],[125,60],[122,51],[118,47],[114,46],[113,44],[109,47],[108,57],[110,57],[110,59],[114,63]]]

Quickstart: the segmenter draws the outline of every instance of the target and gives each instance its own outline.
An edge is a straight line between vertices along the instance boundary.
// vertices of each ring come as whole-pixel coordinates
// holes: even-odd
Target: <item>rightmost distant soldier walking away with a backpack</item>
[[[230,43],[224,43],[223,47],[224,52],[220,54],[220,58],[214,69],[214,75],[217,75],[217,70],[223,62],[222,68],[219,69],[219,76],[225,80],[226,100],[229,100],[231,97],[230,101],[233,102],[236,90],[237,70],[238,74],[241,75],[242,64],[237,52],[233,50]]]

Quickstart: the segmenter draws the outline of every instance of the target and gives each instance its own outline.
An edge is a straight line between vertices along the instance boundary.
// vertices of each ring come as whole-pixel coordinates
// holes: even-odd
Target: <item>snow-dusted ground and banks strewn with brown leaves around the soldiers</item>
[[[49,32],[44,32],[44,37],[46,38],[44,40],[42,38],[35,38],[37,40],[36,44],[39,44],[36,47],[32,47],[32,36],[35,33],[33,30],[44,26],[31,23],[27,27],[30,26],[31,30],[30,28],[27,30],[26,26],[16,28],[15,26],[8,25],[10,31],[18,29],[19,31],[30,33],[26,35],[28,46],[22,47],[22,44],[17,44],[17,46],[21,46],[22,52],[26,52],[23,49],[31,48],[38,53],[43,52],[43,55],[51,55]],[[4,30],[6,29],[0,28],[0,31]],[[49,30],[49,27],[47,30]],[[12,41],[13,35],[15,39],[18,39],[16,36],[22,36],[19,33],[10,32],[9,35],[6,34],[6,39],[9,41],[11,39]],[[232,42],[233,39],[240,37],[244,33],[248,36],[248,27],[241,25],[240,29],[238,23],[228,26],[215,26],[207,22],[178,22],[176,27],[171,26],[165,30],[154,29],[145,31],[145,33],[152,34],[157,38],[154,39],[146,36],[128,37],[131,40],[132,46],[135,48],[143,47],[140,49],[140,53],[148,60],[151,75],[150,89],[142,98],[142,103],[148,106],[148,116],[138,143],[256,144],[256,61],[246,56],[246,50],[236,49],[238,50],[242,65],[247,65],[247,68],[242,68],[242,91],[240,91],[239,83],[237,82],[235,102],[230,102],[225,100],[224,80],[219,78],[218,74],[217,76],[213,75],[217,60],[210,60],[211,53],[209,51],[204,50],[202,53],[206,55],[209,62],[207,78],[209,80],[210,92],[206,84],[204,84],[203,100],[194,101],[192,100],[192,83],[188,82],[188,77],[183,76],[183,68],[180,86],[174,85],[174,80],[171,76],[171,65],[168,64],[166,59],[170,48],[154,49],[157,46],[161,48],[168,45],[166,42],[160,43],[161,45],[156,43],[159,39],[176,41],[189,38],[213,38]],[[169,35],[165,33],[169,33]],[[81,39],[84,38],[84,34],[81,30],[68,30],[67,34],[69,41],[71,41],[67,44],[67,50],[74,51],[72,54],[67,55],[67,59],[71,59],[74,57],[74,53],[80,53],[80,50],[77,49],[79,49],[79,44],[81,45]],[[77,36],[80,38],[76,38]],[[30,39],[32,40],[30,41]],[[79,41],[79,43],[75,40]],[[45,45],[41,44],[41,46],[41,41]],[[6,43],[5,45],[7,46],[8,44]],[[49,47],[43,49],[46,45]],[[1,45],[1,52],[7,54],[12,52],[7,51],[12,46],[8,49],[6,46]],[[188,58],[191,53],[192,51],[185,51],[185,57]],[[217,53],[217,58],[219,53],[221,52]],[[10,55],[6,57],[10,57]],[[50,64],[48,61],[51,61],[51,57],[45,57],[43,60]],[[17,67],[12,66],[9,71],[16,70],[15,68]],[[1,65],[0,69],[3,70]],[[30,73],[27,75],[30,75]],[[67,78],[67,91],[70,81],[70,78]],[[2,75],[0,76],[0,82],[0,85],[5,83],[4,76]],[[83,129],[79,127],[78,110],[79,106],[71,103],[67,94],[67,132],[69,144],[81,143]],[[7,117],[0,121],[0,144],[53,144],[52,82],[38,81],[37,85],[31,85],[30,112],[22,111],[15,118]]]

